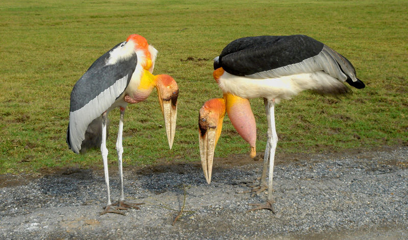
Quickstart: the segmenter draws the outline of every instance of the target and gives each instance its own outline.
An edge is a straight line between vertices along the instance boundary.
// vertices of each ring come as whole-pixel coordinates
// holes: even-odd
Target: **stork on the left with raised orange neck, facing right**
[[[138,203],[125,203],[122,174],[123,115],[127,103],[145,100],[156,87],[160,107],[165,120],[169,147],[173,145],[177,97],[179,88],[168,75],[152,75],[158,51],[140,35],[130,35],[126,41],[114,46],[100,56],[73,86],[71,91],[67,143],[74,153],[82,152],[93,138],[100,138],[99,147],[104,161],[107,212],[123,214],[119,210],[136,208]],[[119,164],[120,197],[111,204],[108,174],[108,149],[106,148],[107,115],[110,110],[120,108],[120,120],[116,150]],[[100,125],[100,127],[99,127]],[[96,129],[96,132],[95,132]],[[96,140],[97,141],[97,140]]]

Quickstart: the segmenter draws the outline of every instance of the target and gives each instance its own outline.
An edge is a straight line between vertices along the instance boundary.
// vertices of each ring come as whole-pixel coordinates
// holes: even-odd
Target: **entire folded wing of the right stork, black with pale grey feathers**
[[[345,57],[305,35],[237,39],[224,48],[214,67],[223,67],[236,76],[261,79],[324,71],[352,86],[364,87]]]

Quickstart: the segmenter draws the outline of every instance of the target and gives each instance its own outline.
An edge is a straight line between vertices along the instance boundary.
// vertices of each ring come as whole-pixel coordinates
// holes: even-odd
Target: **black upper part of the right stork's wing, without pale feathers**
[[[250,76],[299,63],[322,49],[323,43],[304,35],[246,37],[228,44],[219,62],[227,73]]]

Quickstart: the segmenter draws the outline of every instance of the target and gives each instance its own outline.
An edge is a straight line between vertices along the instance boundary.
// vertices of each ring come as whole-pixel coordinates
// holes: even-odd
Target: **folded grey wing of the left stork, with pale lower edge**
[[[108,65],[109,52],[89,67],[71,91],[67,143],[75,153],[81,150],[88,125],[120,97],[136,68],[136,54]]]

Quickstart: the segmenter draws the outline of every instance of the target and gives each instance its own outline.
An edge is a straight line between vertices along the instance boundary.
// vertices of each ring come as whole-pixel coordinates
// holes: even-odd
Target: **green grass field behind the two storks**
[[[159,51],[154,74],[169,74],[179,84],[179,112],[169,150],[157,93],[129,106],[124,166],[198,160],[198,109],[222,95],[212,59],[230,41],[257,35],[311,36],[346,56],[366,83],[341,100],[303,92],[283,101],[275,112],[277,152],[407,145],[407,1],[134,2],[0,2],[0,174],[103,166],[99,150],[68,150],[70,91],[94,60],[134,33]],[[251,105],[262,152],[263,100]],[[119,111],[109,116],[108,158],[116,165]],[[226,117],[216,157],[247,152]]]

